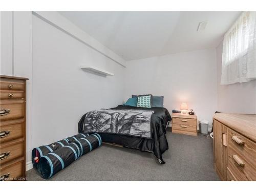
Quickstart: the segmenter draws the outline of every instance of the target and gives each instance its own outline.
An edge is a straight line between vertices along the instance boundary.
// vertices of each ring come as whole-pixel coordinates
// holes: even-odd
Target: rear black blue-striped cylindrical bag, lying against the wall
[[[32,150],[32,159],[31,159],[32,163],[33,163],[33,166],[35,168],[37,168],[37,163],[38,163],[38,160],[39,160],[40,157],[42,157],[42,156],[44,156],[48,153],[54,152],[54,151],[58,150],[58,148],[61,148],[65,145],[68,145],[71,142],[74,142],[78,139],[86,138],[87,136],[89,136],[89,134],[77,134],[77,135],[74,135],[72,137],[68,137],[66,139],[62,139],[60,141],[51,143],[49,145],[42,145],[42,146],[33,148],[33,150]]]

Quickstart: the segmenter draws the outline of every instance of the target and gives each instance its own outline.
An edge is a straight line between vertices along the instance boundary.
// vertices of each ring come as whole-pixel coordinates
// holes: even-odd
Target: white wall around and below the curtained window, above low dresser
[[[218,111],[256,114],[256,80],[221,85],[222,45],[217,47]]]

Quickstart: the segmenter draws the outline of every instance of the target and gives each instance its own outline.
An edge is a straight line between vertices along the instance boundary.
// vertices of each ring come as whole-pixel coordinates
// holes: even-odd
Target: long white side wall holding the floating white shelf
[[[77,133],[77,123],[89,110],[123,102],[124,68],[37,16],[33,26],[32,147]],[[95,65],[115,76],[85,72]]]

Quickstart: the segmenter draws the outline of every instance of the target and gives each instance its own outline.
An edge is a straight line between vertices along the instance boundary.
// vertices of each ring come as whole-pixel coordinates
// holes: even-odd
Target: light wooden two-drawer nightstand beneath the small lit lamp
[[[172,114],[172,132],[197,135],[197,116]]]

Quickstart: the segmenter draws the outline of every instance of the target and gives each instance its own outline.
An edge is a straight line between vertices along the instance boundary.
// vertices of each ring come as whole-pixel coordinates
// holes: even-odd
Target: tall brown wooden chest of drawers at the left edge
[[[26,180],[27,78],[0,78],[0,181]]]

